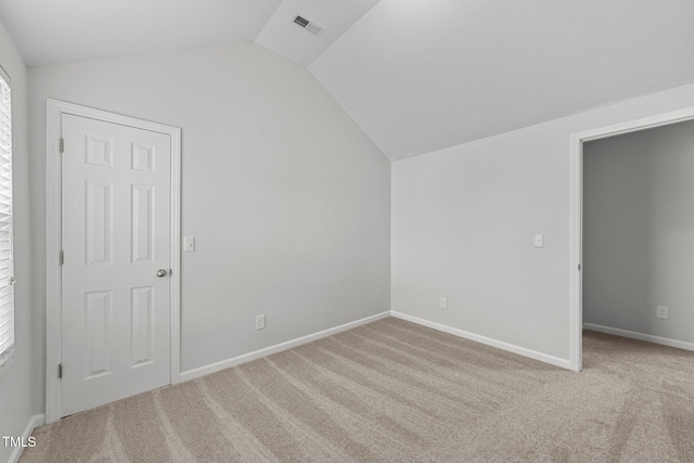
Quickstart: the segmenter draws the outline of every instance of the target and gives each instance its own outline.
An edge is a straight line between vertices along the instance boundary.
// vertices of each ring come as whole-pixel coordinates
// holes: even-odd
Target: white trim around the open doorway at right
[[[694,119],[694,106],[657,114],[642,119],[600,127],[570,136],[569,149],[569,361],[574,371],[581,371],[583,357],[583,142],[600,140],[639,130]]]

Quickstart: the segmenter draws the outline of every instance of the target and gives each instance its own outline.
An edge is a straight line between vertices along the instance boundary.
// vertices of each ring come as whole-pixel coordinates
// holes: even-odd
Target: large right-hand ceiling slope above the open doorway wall
[[[381,0],[309,69],[391,159],[694,81],[693,0]]]

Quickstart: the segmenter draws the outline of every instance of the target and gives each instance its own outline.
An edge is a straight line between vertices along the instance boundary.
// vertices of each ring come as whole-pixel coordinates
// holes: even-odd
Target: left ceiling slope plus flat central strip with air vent
[[[28,66],[254,41],[308,65],[377,1],[0,0],[0,18]]]

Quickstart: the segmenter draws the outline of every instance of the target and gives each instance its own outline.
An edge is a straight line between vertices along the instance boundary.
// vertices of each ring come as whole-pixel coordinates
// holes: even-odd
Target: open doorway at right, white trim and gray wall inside
[[[690,171],[694,172],[694,144],[689,151],[682,147],[694,140],[693,129],[694,108],[687,108],[571,137],[574,370],[582,368],[584,322],[593,330],[620,336],[680,348],[694,346],[694,307],[689,303],[694,300],[694,293],[687,297],[686,286],[691,284],[680,285],[680,281],[692,280],[684,274],[689,272],[683,271],[685,267],[692,267],[694,278],[693,260],[677,252],[679,246],[686,246],[687,240],[694,240],[694,218],[683,217],[681,205],[686,197],[694,198],[694,173],[687,181],[685,166],[691,163]],[[664,150],[671,153],[665,156]],[[599,159],[601,154],[604,157]],[[656,165],[657,160],[661,164]],[[614,173],[612,178],[609,172]],[[591,207],[590,213],[587,207]],[[694,257],[694,243],[689,247]],[[602,303],[597,304],[599,299]],[[672,304],[678,307],[677,318]],[[611,310],[601,312],[605,306],[612,306]],[[665,307],[668,319],[661,318]]]

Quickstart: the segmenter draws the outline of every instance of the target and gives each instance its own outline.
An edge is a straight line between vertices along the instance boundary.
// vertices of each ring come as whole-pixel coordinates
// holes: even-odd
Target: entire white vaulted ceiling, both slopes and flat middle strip
[[[0,0],[0,21],[29,66],[255,41],[391,159],[694,82],[692,0]]]

